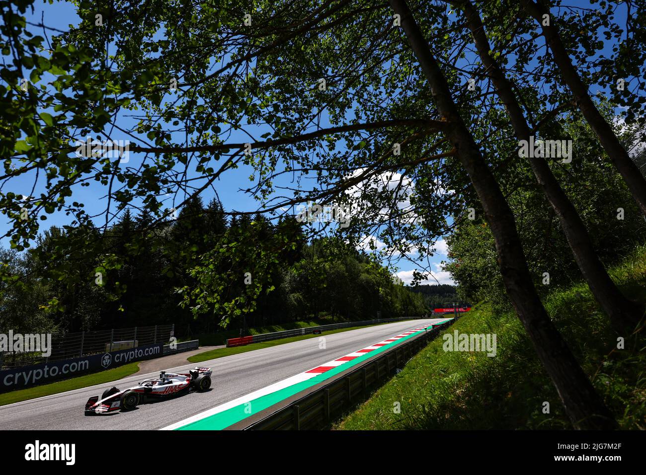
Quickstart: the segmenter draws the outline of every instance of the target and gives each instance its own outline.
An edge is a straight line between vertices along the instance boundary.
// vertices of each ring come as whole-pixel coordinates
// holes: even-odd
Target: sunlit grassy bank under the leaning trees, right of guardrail
[[[646,247],[610,275],[629,297],[646,301]],[[585,284],[544,301],[552,321],[624,429],[646,428],[646,335],[617,335]],[[495,333],[497,353],[445,352],[443,338],[415,355],[404,370],[333,428],[563,429],[572,428],[561,401],[514,313],[475,306],[446,333]],[[618,337],[625,348],[618,349]],[[543,413],[544,403],[549,414]],[[401,412],[393,412],[393,404]]]

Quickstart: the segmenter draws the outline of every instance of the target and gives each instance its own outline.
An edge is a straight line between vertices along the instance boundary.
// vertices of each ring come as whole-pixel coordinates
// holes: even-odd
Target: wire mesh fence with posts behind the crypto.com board
[[[123,346],[132,348],[167,343],[174,335],[174,330],[175,325],[171,324],[52,336],[52,353],[48,357],[39,353],[0,352],[0,370],[51,363],[84,355],[102,355],[114,350],[125,350]]]

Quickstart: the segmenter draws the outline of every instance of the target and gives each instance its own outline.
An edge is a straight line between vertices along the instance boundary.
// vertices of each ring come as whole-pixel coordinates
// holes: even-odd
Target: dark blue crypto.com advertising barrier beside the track
[[[50,361],[22,368],[11,368],[0,371],[0,392],[24,389],[63,379],[64,377],[110,370],[133,361],[158,358],[162,355],[162,352],[163,343],[154,343],[103,354]]]

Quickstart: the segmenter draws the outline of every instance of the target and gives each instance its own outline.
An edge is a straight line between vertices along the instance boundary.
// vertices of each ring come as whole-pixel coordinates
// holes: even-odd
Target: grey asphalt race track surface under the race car
[[[103,429],[158,429],[214,406],[245,396],[255,390],[314,368],[359,348],[377,343],[406,330],[443,319],[423,319],[394,322],[349,332],[323,335],[326,348],[318,347],[314,337],[281,344],[238,355],[231,355],[201,363],[169,368],[184,372],[195,366],[213,370],[213,385],[208,392],[191,392],[185,396],[140,405],[131,412],[115,412],[105,416],[85,416],[83,409],[91,396],[101,396],[106,388],[125,389],[150,375],[129,376],[119,381],[90,386],[62,394],[40,397],[0,406],[0,429],[23,430],[103,430]]]

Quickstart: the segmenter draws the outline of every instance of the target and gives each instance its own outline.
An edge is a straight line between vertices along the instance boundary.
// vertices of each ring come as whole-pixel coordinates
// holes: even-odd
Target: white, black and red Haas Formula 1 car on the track
[[[92,396],[85,403],[85,415],[108,414],[117,410],[132,410],[140,403],[154,399],[186,394],[191,389],[205,391],[211,387],[211,368],[193,368],[188,373],[162,371],[159,379],[146,379],[139,385],[120,391],[114,386],[103,396]]]

